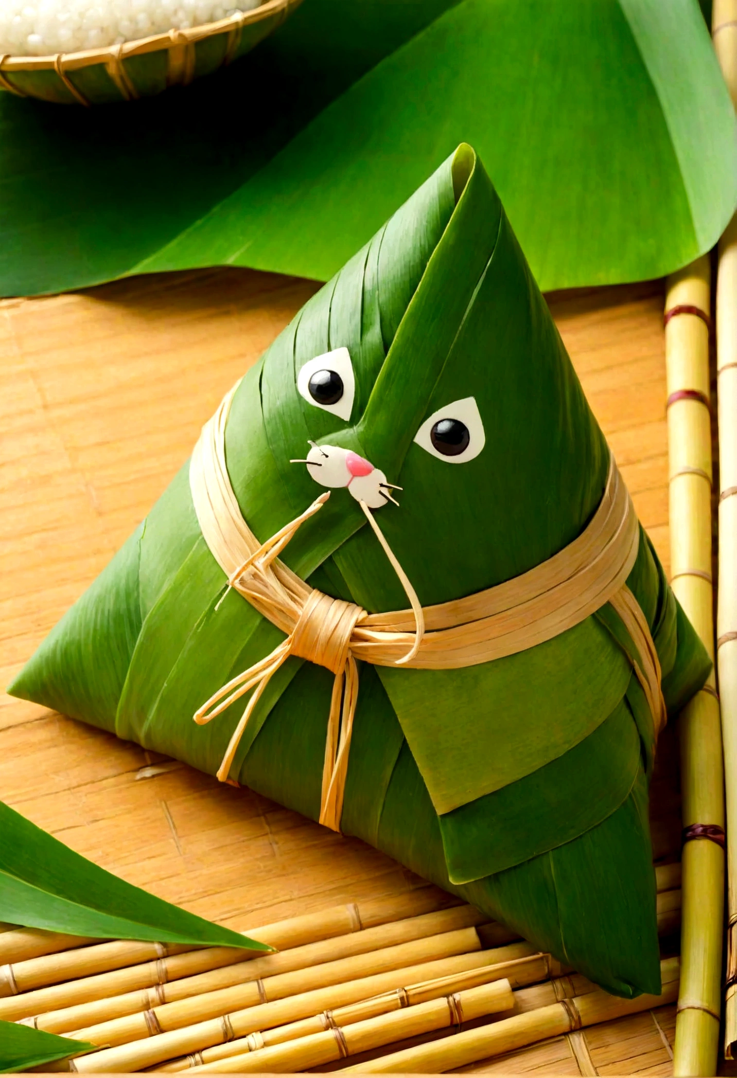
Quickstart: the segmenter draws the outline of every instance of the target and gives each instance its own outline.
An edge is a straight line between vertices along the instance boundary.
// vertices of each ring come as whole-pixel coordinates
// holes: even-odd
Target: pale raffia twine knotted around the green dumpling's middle
[[[327,492],[264,543],[259,543],[244,521],[226,465],[226,424],[236,388],[202,429],[190,464],[192,500],[203,537],[226,573],[229,589],[282,630],[286,639],[222,686],[194,715],[195,722],[209,722],[255,689],[218,770],[221,782],[228,778],[241,737],[269,680],[289,655],[325,666],[333,673],[335,682],[319,821],[337,831],[358,700],[357,659],[377,666],[415,669],[474,666],[550,640],[605,603],[617,612],[634,644],[636,653],[629,659],[645,692],[657,736],[666,721],[660,665],[647,621],[626,585],[637,558],[639,525],[613,457],[599,508],[573,542],[503,584],[424,608],[373,515],[361,503],[412,607],[370,614],[311,588],[278,558],[304,521],[325,505]]]

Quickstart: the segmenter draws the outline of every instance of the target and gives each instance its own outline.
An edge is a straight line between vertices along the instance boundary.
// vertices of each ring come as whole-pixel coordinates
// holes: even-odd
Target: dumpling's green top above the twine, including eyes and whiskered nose
[[[469,245],[473,184],[489,212]],[[370,610],[407,600],[359,500],[428,605],[517,576],[575,538],[609,457],[486,172],[459,152],[411,203],[410,225],[406,211],[390,220],[274,342],[228,427],[255,533],[268,538],[329,488],[285,559],[306,576],[331,557]],[[250,459],[238,450],[246,411],[262,425]]]

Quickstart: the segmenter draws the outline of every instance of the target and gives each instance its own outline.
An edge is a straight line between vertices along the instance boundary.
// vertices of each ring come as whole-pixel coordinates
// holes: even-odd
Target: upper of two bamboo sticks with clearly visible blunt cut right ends
[[[163,1004],[178,1003],[206,992],[215,992],[248,981],[257,981],[259,978],[272,977],[275,973],[304,969],[338,958],[376,951],[379,948],[407,943],[410,940],[437,936],[440,932],[453,931],[458,928],[467,928],[481,921],[483,921],[483,914],[479,913],[473,906],[455,906],[447,910],[438,910],[435,913],[424,913],[417,917],[391,922],[387,925],[364,928],[345,936],[336,936],[330,940],[289,948],[277,954],[260,957],[251,955],[246,962],[237,960],[243,958],[243,954],[235,952],[236,959],[232,960],[233,964],[226,966],[226,963],[221,962],[221,968],[216,969],[214,968],[215,962],[203,962],[202,972],[196,968],[197,952],[193,952],[191,955],[180,955],[170,959],[164,967],[156,967],[153,972],[160,976],[154,982],[153,991],[148,991],[151,983],[149,971],[142,971],[139,978],[142,983],[131,983],[135,970],[118,970],[104,975],[99,979],[98,996],[93,1001],[79,1006],[62,1006],[43,1013],[26,1010],[26,1013],[37,1013],[38,1017],[32,1023],[37,1029],[45,1029],[47,1033],[69,1033],[73,1029],[99,1025],[103,1022],[150,1010]],[[207,957],[207,952],[202,953]],[[196,976],[183,976],[183,959],[188,960],[189,971]],[[73,997],[77,989],[73,985],[67,987],[67,998]],[[137,991],[140,989],[144,991]],[[59,992],[58,995],[62,997],[63,993]],[[23,998],[17,1000],[16,1011],[22,1006]],[[2,1004],[0,1004],[0,1018],[3,1017]]]

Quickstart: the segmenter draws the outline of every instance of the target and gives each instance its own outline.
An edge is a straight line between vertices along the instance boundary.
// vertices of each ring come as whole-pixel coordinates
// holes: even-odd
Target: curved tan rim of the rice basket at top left
[[[50,68],[57,71],[78,71],[81,68],[92,67],[96,64],[120,64],[121,60],[131,56],[142,56],[146,53],[160,52],[177,45],[196,44],[205,38],[215,37],[218,33],[228,33],[232,30],[242,29],[250,23],[260,23],[270,15],[284,12],[284,17],[289,14],[290,8],[297,8],[301,0],[267,0],[265,3],[254,8],[250,11],[237,12],[228,15],[215,23],[203,23],[200,26],[191,26],[186,30],[170,29],[164,33],[154,33],[148,38],[136,38],[133,41],[124,41],[118,45],[105,45],[101,49],[84,49],[74,53],[53,53],[47,56],[15,56],[10,53],[0,54],[0,71],[12,73],[15,71],[42,71]]]

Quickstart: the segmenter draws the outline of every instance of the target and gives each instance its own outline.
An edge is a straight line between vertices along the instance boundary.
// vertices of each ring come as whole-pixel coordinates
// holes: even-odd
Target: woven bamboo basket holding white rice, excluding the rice
[[[267,0],[217,23],[105,49],[54,56],[0,56],[0,88],[60,105],[104,105],[161,94],[245,56],[301,0]]]

